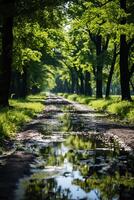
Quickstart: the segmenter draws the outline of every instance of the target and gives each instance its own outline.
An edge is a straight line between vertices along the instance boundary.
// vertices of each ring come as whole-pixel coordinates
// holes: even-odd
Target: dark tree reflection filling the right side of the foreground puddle
[[[87,138],[70,136],[66,145],[71,147],[67,155],[68,160],[75,163],[81,175],[85,177],[84,180],[74,180],[73,184],[80,186],[86,192],[94,188],[98,189],[104,200],[112,200],[114,197],[131,199],[132,193],[134,194],[134,177],[128,170],[133,169],[133,158],[127,152],[120,151],[118,144],[112,144],[113,151],[110,149],[97,151],[94,140],[87,142]],[[79,149],[83,151],[75,151]],[[84,151],[87,149],[88,151]],[[104,171],[103,167],[109,170]]]

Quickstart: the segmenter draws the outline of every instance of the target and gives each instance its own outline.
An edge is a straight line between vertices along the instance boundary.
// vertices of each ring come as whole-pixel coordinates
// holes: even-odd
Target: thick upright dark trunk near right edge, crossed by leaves
[[[120,6],[126,11],[126,0],[120,0]],[[126,18],[123,18],[121,24],[126,24]],[[131,100],[128,69],[129,48],[126,41],[126,35],[120,36],[120,84],[122,100]]]

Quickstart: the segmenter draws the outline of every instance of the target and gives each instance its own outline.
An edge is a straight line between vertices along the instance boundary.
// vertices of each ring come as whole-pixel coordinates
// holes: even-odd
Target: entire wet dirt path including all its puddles
[[[133,127],[53,95],[45,105],[0,158],[0,200],[134,199]]]

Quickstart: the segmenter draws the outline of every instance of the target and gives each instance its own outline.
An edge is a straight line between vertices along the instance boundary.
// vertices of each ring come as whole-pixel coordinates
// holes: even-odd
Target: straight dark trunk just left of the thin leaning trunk
[[[98,35],[96,37],[96,56],[97,56],[97,68],[96,68],[96,98],[103,98],[102,95],[102,68],[103,64],[101,61],[101,43],[102,37]]]

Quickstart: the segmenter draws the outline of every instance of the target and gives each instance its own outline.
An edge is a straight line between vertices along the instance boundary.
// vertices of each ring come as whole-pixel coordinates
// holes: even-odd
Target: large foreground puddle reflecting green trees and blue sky
[[[24,181],[23,200],[71,200],[74,188],[84,192],[87,198],[83,199],[88,199],[93,191],[100,194],[98,199],[131,199],[134,178],[128,168],[133,169],[132,158],[120,151],[118,145],[113,146],[113,150],[105,148],[94,135],[70,135],[64,142],[42,148],[45,165],[40,168],[41,173]]]

